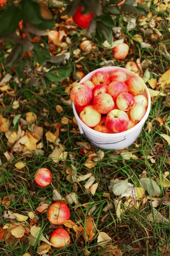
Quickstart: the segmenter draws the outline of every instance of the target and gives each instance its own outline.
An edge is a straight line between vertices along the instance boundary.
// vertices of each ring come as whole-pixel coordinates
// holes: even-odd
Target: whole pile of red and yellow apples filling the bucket
[[[144,117],[148,101],[142,95],[145,84],[141,77],[114,69],[110,75],[96,71],[91,81],[83,81],[71,90],[82,122],[101,133],[121,133],[133,128]]]

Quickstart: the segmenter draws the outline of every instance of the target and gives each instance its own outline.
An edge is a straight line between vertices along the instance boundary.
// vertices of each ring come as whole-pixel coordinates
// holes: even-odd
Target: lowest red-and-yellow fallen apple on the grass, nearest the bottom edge
[[[62,248],[71,243],[70,236],[63,228],[57,228],[50,237],[50,243],[55,248]]]

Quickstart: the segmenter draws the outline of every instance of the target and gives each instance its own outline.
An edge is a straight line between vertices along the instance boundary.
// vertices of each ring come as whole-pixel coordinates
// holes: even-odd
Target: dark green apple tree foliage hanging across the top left
[[[100,43],[106,40],[112,43],[114,15],[133,12],[147,16],[146,10],[137,6],[135,0],[63,0],[65,10],[59,15],[73,16],[79,5],[84,7],[82,14],[87,11],[94,13],[87,34],[96,32]],[[41,79],[46,87],[51,81],[62,81],[70,74],[68,65],[62,65],[65,54],[51,57],[48,49],[46,35],[55,27],[59,15],[52,15],[45,3],[36,0],[8,0],[7,5],[0,10],[0,41],[12,41],[14,45],[6,58],[6,65],[14,67],[20,86],[26,81],[29,81],[30,86],[36,86]],[[19,26],[21,20],[22,31]],[[27,36],[24,37],[23,33]],[[37,71],[36,62],[49,71]]]

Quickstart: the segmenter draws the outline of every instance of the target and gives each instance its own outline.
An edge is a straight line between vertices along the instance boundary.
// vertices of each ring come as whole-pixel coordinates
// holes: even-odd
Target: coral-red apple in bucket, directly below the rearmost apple
[[[123,92],[128,93],[128,88],[127,85],[122,81],[113,81],[108,86],[108,93],[111,94],[114,101],[116,101],[117,96]]]

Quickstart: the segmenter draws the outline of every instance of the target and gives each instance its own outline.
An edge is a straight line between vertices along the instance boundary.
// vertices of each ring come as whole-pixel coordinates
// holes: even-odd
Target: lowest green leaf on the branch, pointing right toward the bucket
[[[71,70],[68,67],[56,67],[45,73],[45,76],[51,82],[58,82],[66,79],[69,76],[70,72]]]

